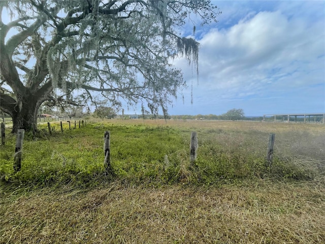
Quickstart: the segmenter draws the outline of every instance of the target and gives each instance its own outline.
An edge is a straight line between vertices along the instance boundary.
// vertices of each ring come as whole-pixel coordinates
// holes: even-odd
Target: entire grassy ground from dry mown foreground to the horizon
[[[25,134],[17,173],[16,136],[6,130],[0,243],[325,242],[323,124],[112,119],[51,128]]]

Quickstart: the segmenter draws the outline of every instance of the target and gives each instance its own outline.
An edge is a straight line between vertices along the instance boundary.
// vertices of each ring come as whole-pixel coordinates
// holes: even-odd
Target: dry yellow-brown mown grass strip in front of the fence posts
[[[3,191],[1,243],[324,243],[325,188],[254,181]]]

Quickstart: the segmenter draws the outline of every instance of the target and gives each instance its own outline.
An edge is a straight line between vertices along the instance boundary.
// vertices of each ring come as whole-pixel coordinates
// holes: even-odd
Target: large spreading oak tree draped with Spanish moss
[[[206,24],[219,14],[210,1],[189,0],[0,5],[1,110],[12,117],[12,132],[35,129],[45,101],[73,104],[75,89],[85,100],[100,92],[112,105],[124,99],[166,111],[185,85],[171,58],[198,62],[199,43],[182,37],[181,26],[195,15]]]

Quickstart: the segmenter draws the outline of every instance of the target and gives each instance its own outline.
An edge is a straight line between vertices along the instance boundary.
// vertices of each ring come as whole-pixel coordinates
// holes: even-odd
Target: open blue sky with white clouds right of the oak
[[[214,4],[222,11],[218,22],[196,26],[199,81],[186,60],[174,60],[188,88],[169,114],[325,112],[325,1]],[[192,29],[188,23],[182,32]]]

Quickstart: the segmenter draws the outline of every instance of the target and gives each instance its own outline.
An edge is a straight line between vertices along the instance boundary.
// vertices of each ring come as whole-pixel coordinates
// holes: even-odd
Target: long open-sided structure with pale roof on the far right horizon
[[[298,120],[297,120],[298,117]],[[312,117],[312,118],[311,118]],[[303,119],[302,119],[303,118]],[[325,121],[325,113],[290,113],[290,114],[264,114],[263,122],[300,122],[322,123]]]

